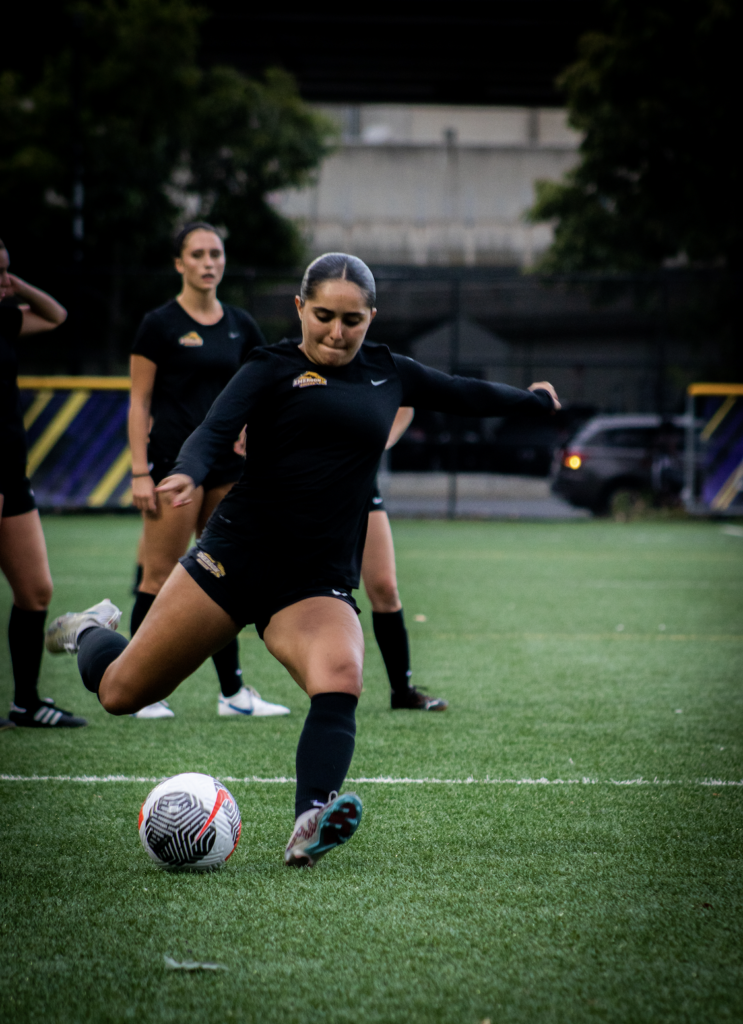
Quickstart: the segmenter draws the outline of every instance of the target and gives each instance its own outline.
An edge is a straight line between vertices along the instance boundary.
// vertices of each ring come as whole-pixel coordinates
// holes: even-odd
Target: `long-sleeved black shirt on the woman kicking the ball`
[[[246,586],[337,581],[358,587],[368,500],[400,406],[467,416],[547,415],[553,401],[449,377],[365,342],[345,367],[316,366],[296,341],[255,349],[181,449],[174,472],[199,484],[248,425],[239,481],[209,521],[254,552]]]

